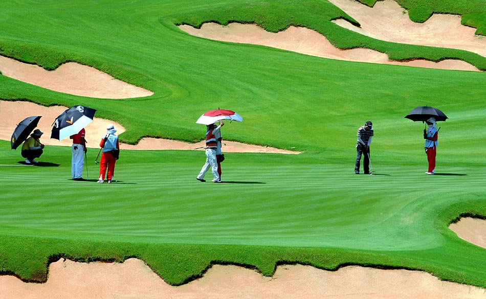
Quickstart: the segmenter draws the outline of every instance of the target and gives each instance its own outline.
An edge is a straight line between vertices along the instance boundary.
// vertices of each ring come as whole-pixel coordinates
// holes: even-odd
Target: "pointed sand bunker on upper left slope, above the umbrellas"
[[[0,71],[4,76],[60,93],[100,98],[127,99],[148,97],[152,91],[137,87],[76,62],[60,65],[54,71],[0,56]]]

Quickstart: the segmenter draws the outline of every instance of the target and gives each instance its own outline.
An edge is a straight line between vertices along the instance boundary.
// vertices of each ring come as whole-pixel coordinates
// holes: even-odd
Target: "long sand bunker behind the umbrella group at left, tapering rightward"
[[[68,108],[62,106],[46,107],[30,102],[0,101],[0,140],[10,140],[17,124],[25,118],[42,116],[37,126],[38,129],[44,132],[40,141],[45,145],[71,146],[72,141],[69,138],[63,139],[62,141],[50,139],[52,123],[65,109]],[[115,125],[117,134],[125,131],[125,128],[118,123],[95,117],[94,121],[85,128],[87,147],[99,148],[101,137],[106,133],[106,125],[108,124]],[[201,130],[205,130],[204,126],[201,126]],[[120,144],[120,148],[130,150],[192,150],[197,147],[203,147],[204,145],[204,141],[194,144],[168,139],[143,138],[137,145]],[[235,153],[300,153],[297,151],[281,150],[232,141],[224,141],[223,151]]]

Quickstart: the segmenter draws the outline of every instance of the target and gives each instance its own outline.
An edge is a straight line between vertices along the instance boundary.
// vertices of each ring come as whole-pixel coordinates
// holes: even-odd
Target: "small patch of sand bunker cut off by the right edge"
[[[486,220],[465,217],[449,225],[457,236],[470,243],[486,248]]]

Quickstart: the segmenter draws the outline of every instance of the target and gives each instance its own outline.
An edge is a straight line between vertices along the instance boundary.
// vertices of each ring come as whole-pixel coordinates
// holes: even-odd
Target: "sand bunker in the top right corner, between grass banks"
[[[461,49],[486,57],[486,36],[461,25],[460,15],[433,14],[426,22],[415,23],[407,10],[392,0],[379,1],[372,8],[354,0],[329,2],[357,20],[361,28],[344,19],[334,22],[360,34],[391,42]]]

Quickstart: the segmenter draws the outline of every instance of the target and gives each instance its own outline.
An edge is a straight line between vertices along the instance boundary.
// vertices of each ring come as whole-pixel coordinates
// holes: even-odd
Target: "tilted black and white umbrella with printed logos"
[[[65,137],[77,134],[93,121],[95,112],[95,109],[86,106],[73,106],[65,110],[54,121],[51,138],[60,141]]]

